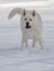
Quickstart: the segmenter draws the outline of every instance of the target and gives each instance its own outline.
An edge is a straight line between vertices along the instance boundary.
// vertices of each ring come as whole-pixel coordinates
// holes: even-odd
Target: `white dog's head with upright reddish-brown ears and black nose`
[[[29,29],[33,26],[33,17],[35,16],[36,16],[35,10],[31,13],[24,10],[22,22],[23,22],[23,25],[25,26],[25,28]]]

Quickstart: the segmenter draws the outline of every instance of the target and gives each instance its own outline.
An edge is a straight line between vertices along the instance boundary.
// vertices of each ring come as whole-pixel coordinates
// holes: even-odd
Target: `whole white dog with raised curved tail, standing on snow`
[[[21,29],[22,29],[22,47],[26,48],[28,45],[28,39],[32,39],[32,47],[39,42],[41,48],[43,48],[43,37],[42,37],[42,21],[40,15],[33,10],[24,10],[15,8],[11,11],[9,19],[13,17],[15,14],[21,14]]]

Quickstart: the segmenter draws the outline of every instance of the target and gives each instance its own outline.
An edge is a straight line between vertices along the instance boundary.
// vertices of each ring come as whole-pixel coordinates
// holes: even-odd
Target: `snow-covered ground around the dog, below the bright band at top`
[[[42,17],[44,50],[21,49],[21,15],[8,20],[12,8],[0,9],[0,71],[54,71],[54,8],[35,9]]]

